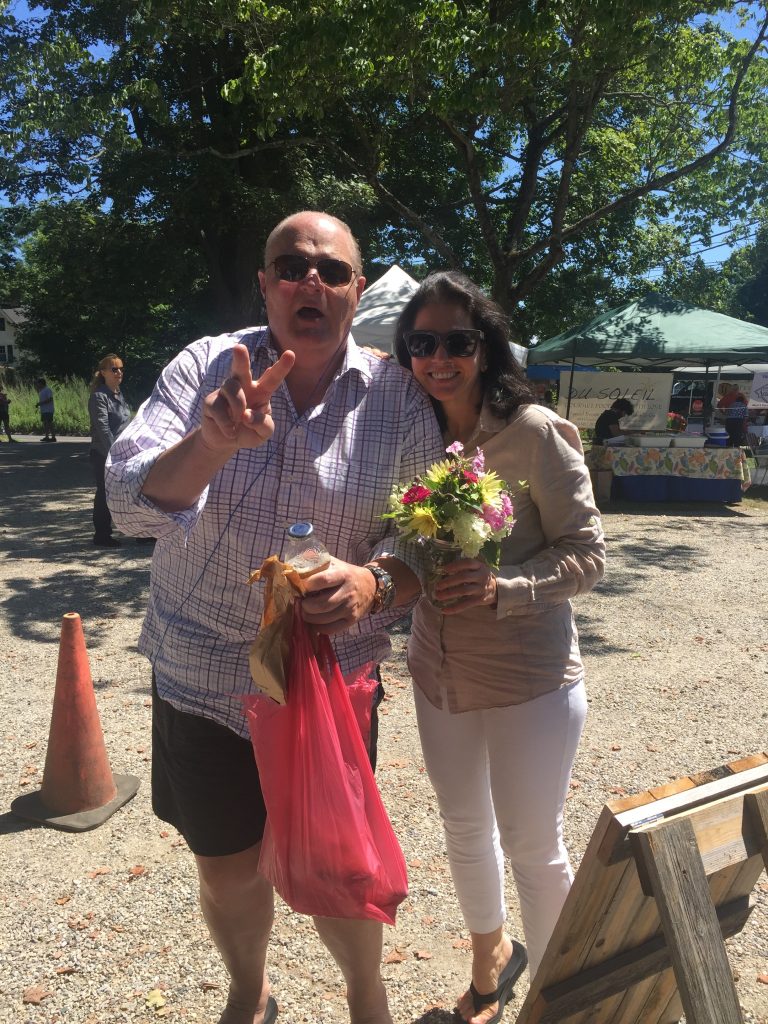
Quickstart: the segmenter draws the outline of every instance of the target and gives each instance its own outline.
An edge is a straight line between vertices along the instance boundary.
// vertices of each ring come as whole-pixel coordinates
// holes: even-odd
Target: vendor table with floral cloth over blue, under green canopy
[[[611,498],[640,502],[740,502],[750,486],[742,449],[630,447],[596,444],[594,473],[612,473]]]

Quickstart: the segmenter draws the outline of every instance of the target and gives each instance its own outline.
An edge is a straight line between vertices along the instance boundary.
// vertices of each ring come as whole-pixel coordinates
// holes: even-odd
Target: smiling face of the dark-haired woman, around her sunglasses
[[[431,304],[422,306],[414,321],[414,331],[436,331],[445,334],[457,328],[474,328],[472,318],[458,304]],[[442,344],[431,355],[412,356],[414,377],[436,401],[467,406],[476,409],[482,400],[480,366],[483,361],[483,343],[472,355],[451,356]]]

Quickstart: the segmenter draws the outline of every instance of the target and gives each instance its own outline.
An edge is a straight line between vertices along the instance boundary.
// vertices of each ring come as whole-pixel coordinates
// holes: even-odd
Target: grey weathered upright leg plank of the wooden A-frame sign
[[[688,818],[632,835],[658,904],[688,1024],[743,1024]]]

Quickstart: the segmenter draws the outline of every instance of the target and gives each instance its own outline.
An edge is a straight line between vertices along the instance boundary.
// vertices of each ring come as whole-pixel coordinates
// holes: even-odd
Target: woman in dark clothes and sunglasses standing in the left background
[[[104,464],[113,441],[131,418],[128,402],[120,385],[125,369],[119,355],[110,352],[98,364],[91,381],[88,416],[91,421],[90,460],[96,478],[93,499],[93,543],[97,548],[119,548],[120,541],[112,536],[112,516],[106,506]]]

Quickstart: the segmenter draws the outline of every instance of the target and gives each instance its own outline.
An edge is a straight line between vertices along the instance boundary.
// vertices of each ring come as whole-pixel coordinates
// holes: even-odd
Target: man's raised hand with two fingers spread
[[[274,433],[269,400],[295,361],[293,352],[283,352],[254,381],[250,352],[245,345],[236,345],[229,376],[203,402],[204,443],[218,452],[237,452],[242,447],[259,447],[268,441]]]

